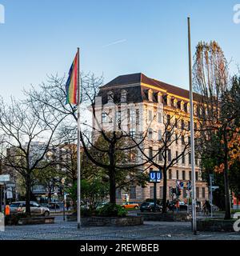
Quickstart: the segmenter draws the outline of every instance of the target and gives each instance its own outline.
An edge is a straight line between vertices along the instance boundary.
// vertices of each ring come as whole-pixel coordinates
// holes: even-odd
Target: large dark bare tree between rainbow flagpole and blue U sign
[[[78,121],[76,114],[76,106],[66,105],[66,91],[65,91],[65,79],[51,76],[48,81],[48,85],[42,84],[42,90],[37,91],[32,88],[30,92],[31,98],[34,98],[35,101],[41,102],[53,110],[58,111],[62,116],[67,116],[66,120],[72,122],[71,118],[74,118],[75,123],[71,126],[75,127],[76,122]],[[98,96],[99,87],[102,86],[103,79],[102,77],[96,78],[94,74],[81,75],[81,103],[82,110],[90,109],[94,120],[97,120],[97,125],[93,126],[81,118],[82,127],[86,127],[81,130],[80,138],[82,142],[82,147],[86,157],[94,162],[96,166],[102,167],[105,170],[108,170],[108,175],[110,178],[110,202],[116,202],[115,191],[116,191],[116,175],[122,170],[133,170],[142,165],[140,164],[130,164],[129,162],[117,161],[117,155],[120,151],[128,152],[137,147],[136,145],[129,146],[126,144],[126,141],[130,141],[130,134],[125,131],[118,130],[109,132],[102,128],[102,123],[98,122],[96,118],[96,97]],[[69,119],[68,119],[69,118]],[[96,139],[93,136],[90,136],[90,130],[93,131],[92,134],[95,134],[96,138],[101,137],[104,140],[102,143],[104,146],[96,146]],[[107,144],[107,147],[106,147]],[[119,147],[119,145],[123,147]],[[98,158],[94,157],[92,154],[93,149],[98,151],[99,154],[106,154],[108,160],[107,162],[99,161]],[[118,151],[118,153],[117,153]],[[130,172],[129,172],[130,173]],[[134,172],[131,172],[134,174]],[[133,175],[132,175],[133,176]]]

